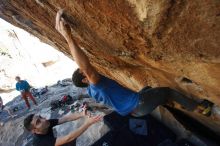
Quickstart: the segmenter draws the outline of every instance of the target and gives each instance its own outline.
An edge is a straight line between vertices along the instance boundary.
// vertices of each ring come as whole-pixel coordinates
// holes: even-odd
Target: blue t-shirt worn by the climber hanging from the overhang
[[[112,107],[123,116],[132,112],[139,102],[138,93],[104,76],[101,76],[97,84],[90,84],[87,92],[97,102],[102,102]]]

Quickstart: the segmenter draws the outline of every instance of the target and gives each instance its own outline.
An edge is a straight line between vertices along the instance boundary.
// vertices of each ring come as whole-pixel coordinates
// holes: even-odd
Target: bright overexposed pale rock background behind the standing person
[[[70,78],[77,67],[63,53],[2,19],[0,34],[0,96],[4,104],[19,94],[15,76],[38,88]]]

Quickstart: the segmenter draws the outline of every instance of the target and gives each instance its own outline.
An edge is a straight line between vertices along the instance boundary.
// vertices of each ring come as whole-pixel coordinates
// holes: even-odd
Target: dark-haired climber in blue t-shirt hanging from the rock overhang
[[[100,75],[73,39],[70,26],[62,15],[63,10],[57,12],[56,29],[66,39],[70,52],[80,68],[72,76],[73,83],[78,87],[87,87],[88,94],[97,102],[111,106],[123,116],[129,113],[134,116],[143,116],[153,111],[158,105],[170,101],[176,101],[190,111],[197,109],[199,103],[168,87],[146,87],[140,92],[134,92]],[[209,107],[204,107],[204,111],[209,111],[207,108]]]

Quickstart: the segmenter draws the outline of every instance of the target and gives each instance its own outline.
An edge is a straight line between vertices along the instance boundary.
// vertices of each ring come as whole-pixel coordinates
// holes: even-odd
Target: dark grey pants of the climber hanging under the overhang
[[[139,97],[139,104],[132,113],[132,115],[137,117],[149,114],[157,106],[173,101],[188,111],[193,111],[198,106],[198,103],[194,99],[169,87],[145,87],[139,92]]]

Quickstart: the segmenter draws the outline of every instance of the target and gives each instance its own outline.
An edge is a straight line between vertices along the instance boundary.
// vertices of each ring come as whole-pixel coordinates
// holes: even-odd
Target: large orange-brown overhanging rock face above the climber
[[[101,74],[135,91],[169,86],[220,105],[219,0],[1,0],[0,16],[70,56],[54,29],[59,8]],[[198,119],[220,132],[216,120]]]

